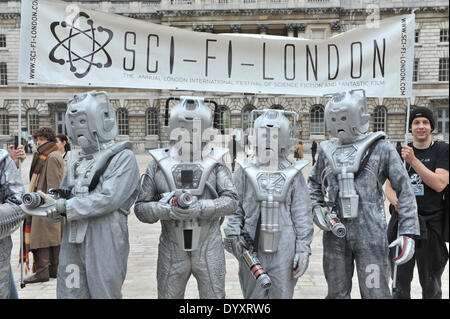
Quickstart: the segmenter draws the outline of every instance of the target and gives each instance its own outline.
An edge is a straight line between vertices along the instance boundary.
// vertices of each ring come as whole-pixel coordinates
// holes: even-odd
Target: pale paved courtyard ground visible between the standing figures
[[[139,154],[136,156],[139,169],[143,173],[148,165],[150,156]],[[306,154],[306,159],[310,160],[310,154]],[[28,171],[31,162],[31,156],[22,166],[22,178],[29,183]],[[311,165],[304,170],[304,176],[308,176]],[[386,206],[387,207],[387,206]],[[389,215],[389,214],[387,214]],[[128,273],[123,285],[124,298],[157,298],[156,286],[156,264],[158,255],[158,238],[160,233],[160,224],[144,224],[137,220],[134,213],[128,218],[130,234],[130,255],[128,258]],[[16,267],[16,261],[19,255],[19,232],[13,234],[14,247],[12,252],[13,270],[17,287],[19,287],[20,267]],[[242,298],[238,279],[238,264],[235,258],[226,255],[226,297],[239,299]],[[449,298],[449,270],[448,264],[442,277],[443,297]],[[19,297],[23,299],[53,299],[56,297],[56,279],[51,279],[46,283],[28,285],[19,290]],[[322,299],[327,293],[327,285],[322,271],[322,232],[315,227],[314,239],[312,242],[312,255],[310,257],[309,268],[297,283],[294,298],[299,299]],[[421,298],[421,287],[418,280],[417,271],[412,283],[412,297]],[[186,298],[198,298],[197,284],[193,277],[189,280],[186,289]],[[352,298],[360,298],[358,289],[358,280],[356,274],[353,278]]]

